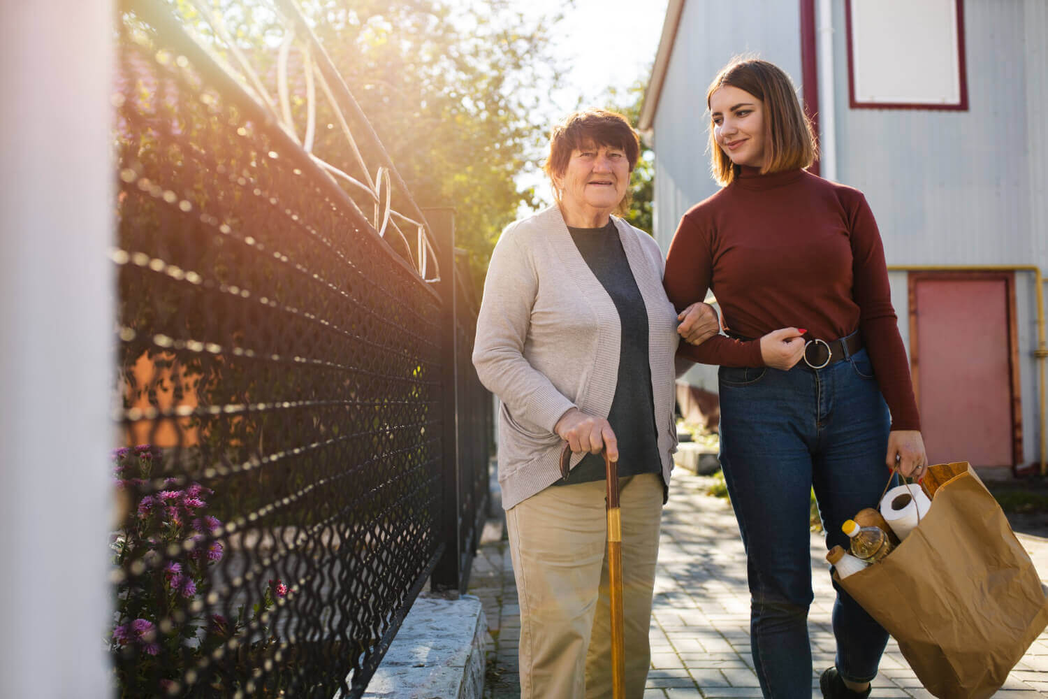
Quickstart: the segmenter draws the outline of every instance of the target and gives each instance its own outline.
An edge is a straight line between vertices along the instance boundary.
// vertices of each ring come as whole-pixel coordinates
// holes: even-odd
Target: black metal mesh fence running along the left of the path
[[[348,132],[349,91],[280,6]],[[384,207],[395,170],[335,173],[268,101],[279,71],[252,88],[183,24],[160,0],[116,24],[114,682],[359,696],[431,574],[467,582],[492,435],[476,299],[450,212]],[[394,246],[397,219],[418,235]]]

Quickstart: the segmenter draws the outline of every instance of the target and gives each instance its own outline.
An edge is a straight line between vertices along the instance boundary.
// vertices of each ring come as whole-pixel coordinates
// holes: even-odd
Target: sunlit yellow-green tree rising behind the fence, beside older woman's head
[[[440,0],[314,0],[316,32],[420,206],[454,206],[457,246],[483,279],[495,240],[521,204],[560,84],[558,17],[529,22],[510,0],[452,10]],[[332,131],[329,135],[336,136]],[[327,150],[320,150],[322,147]],[[350,158],[319,144],[325,158]]]

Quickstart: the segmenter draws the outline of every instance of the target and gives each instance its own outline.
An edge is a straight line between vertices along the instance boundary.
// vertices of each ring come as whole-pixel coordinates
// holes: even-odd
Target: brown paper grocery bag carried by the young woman
[[[898,641],[929,692],[989,697],[1048,625],[1048,599],[968,463],[931,471],[938,487],[917,528],[886,559],[836,580]]]

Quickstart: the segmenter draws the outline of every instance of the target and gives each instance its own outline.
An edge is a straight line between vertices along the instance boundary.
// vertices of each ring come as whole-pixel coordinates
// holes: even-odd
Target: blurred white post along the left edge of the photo
[[[0,2],[0,697],[107,697],[110,0]]]

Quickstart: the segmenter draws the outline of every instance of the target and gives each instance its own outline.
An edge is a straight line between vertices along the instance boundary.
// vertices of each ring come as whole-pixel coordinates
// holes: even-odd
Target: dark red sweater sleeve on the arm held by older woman
[[[680,219],[665,256],[662,285],[677,312],[706,298],[713,278],[713,254],[709,238],[687,214]],[[763,367],[761,343],[714,335],[701,345],[681,341],[679,358],[724,367]]]

